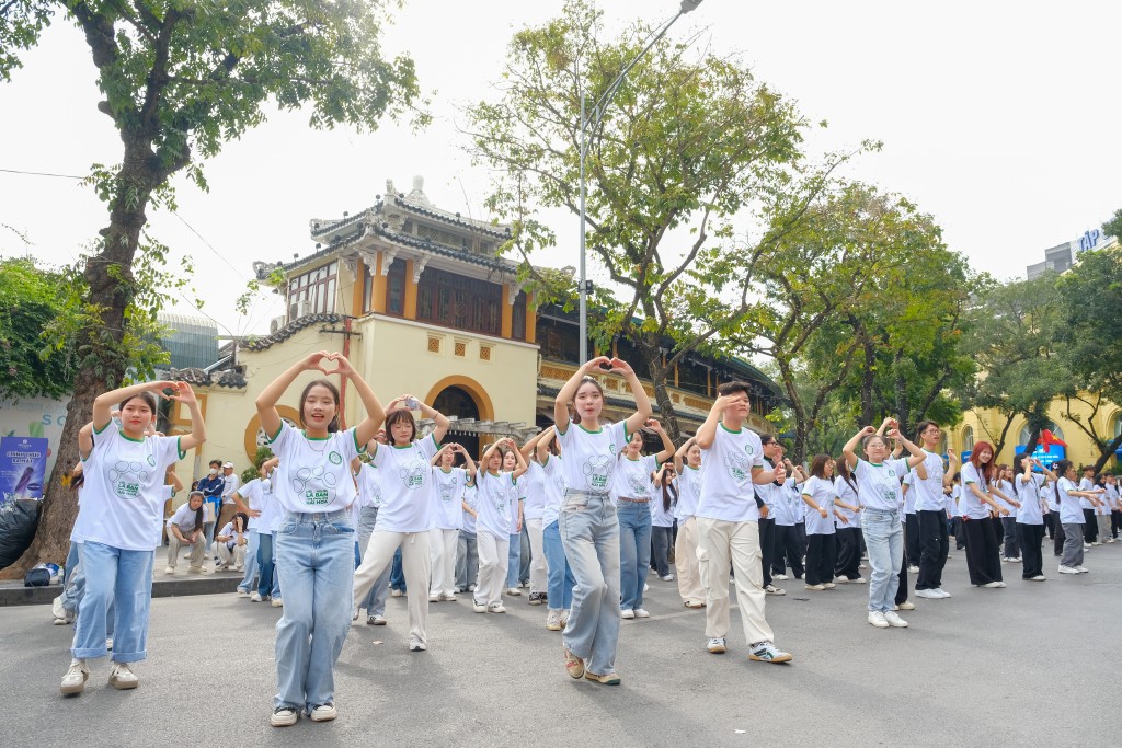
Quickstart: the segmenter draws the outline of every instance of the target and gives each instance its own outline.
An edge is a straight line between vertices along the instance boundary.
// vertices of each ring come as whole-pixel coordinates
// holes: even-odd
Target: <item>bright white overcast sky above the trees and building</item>
[[[473,168],[457,130],[462,109],[491,94],[512,30],[557,15],[561,0],[407,0],[386,44],[416,61],[435,120],[414,135],[307,128],[306,114],[274,116],[206,164],[211,192],[180,179],[180,214],[151,214],[151,230],[176,257],[193,256],[203,311],[224,334],[265,332],[280,305],[264,298],[250,316],[233,308],[254,260],[307,253],[311,218],[337,218],[375,202],[392,178],[413,175],[439,206],[482,215],[489,176]],[[674,0],[601,0],[609,31],[640,16],[659,24]],[[820,148],[885,144],[848,174],[900,192],[935,215],[948,244],[1002,278],[1023,277],[1043,250],[1076,239],[1122,207],[1122,3],[744,2],[705,0],[671,38],[703,29],[720,53],[741,52],[757,75],[829,120]],[[85,174],[114,164],[120,144],[95,104],[94,67],[65,22],[0,84],[0,168]],[[535,258],[577,264],[577,220],[559,214],[560,247]],[[0,173],[0,255],[72,261],[105,223],[101,203],[72,181]],[[232,269],[231,269],[232,266]],[[590,270],[596,278],[595,268]],[[177,311],[194,313],[180,301]]]

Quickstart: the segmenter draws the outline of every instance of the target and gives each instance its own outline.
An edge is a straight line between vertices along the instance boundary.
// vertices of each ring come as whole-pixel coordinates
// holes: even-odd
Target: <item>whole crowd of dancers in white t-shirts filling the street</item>
[[[277,404],[306,371],[348,379],[361,422],[339,427],[339,389],[327,378],[300,394],[302,427],[284,422]],[[595,375],[603,373],[634,393],[635,412],[623,421],[601,419]],[[1080,481],[1067,460],[1051,470],[1028,456],[996,465],[985,442],[963,464],[954,452],[945,461],[931,422],[917,426],[918,444],[888,418],[855,434],[839,456],[794,465],[776,440],[746,427],[748,394],[746,384],[721,385],[697,434],[675,449],[631,367],[600,357],[559,391],[555,426],[522,445],[499,438],[477,461],[443,443],[450,422],[430,405],[403,395],[384,407],[344,357],[318,352],[257,398],[274,458],[219,505],[217,535],[206,535],[205,490],[166,520],[167,572],[185,547],[192,570],[211,548],[243,572],[239,595],[283,607],[270,723],[284,727],[302,714],[335,718],[334,665],[348,630],[364,610],[367,624],[385,625],[392,593],[407,594],[407,646],[424,652],[430,603],[469,593],[475,612],[504,613],[504,594],[521,597],[524,583],[530,604],[545,606],[545,628],[561,631],[567,673],[618,684],[620,621],[650,616],[652,567],[677,581],[683,607],[705,610],[709,653],[729,647],[732,583],[748,658],[785,663],[792,655],[776,647],[765,618],[767,595],[784,594],[775,582],[793,576],[826,592],[866,583],[867,566],[868,622],[905,628],[899,611],[914,608],[909,567],[917,597],[950,597],[942,589],[950,537],[966,551],[971,583],[995,589],[1005,585],[1003,562],[1021,563],[1024,580],[1045,579],[1046,530],[1059,572],[1079,574],[1084,551],[1115,542],[1122,527],[1113,477],[1092,470]],[[151,433],[156,397],[191,409],[191,434]],[[430,432],[419,432],[419,416],[432,422]],[[86,661],[107,655],[110,634],[110,684],[136,687],[130,663],[146,657],[165,474],[205,438],[186,385],[137,385],[95,400],[80,443],[72,543],[84,588],[64,694],[83,691]],[[644,455],[647,441],[657,447]]]

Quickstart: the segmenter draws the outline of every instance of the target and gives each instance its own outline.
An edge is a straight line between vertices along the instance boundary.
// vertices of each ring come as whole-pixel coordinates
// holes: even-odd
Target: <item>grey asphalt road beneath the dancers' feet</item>
[[[772,746],[1119,745],[1114,634],[1122,543],[1087,553],[1089,574],[971,588],[954,553],[949,600],[917,600],[909,629],[865,621],[867,588],[769,598],[789,665],[753,663],[738,613],[729,652],[703,649],[703,611],[651,581],[647,620],[624,621],[620,686],[572,681],[544,607],[508,599],[505,616],[466,600],[432,603],[429,652],[406,650],[405,599],[389,626],[355,625],[337,668],[334,722],[268,726],[278,609],[232,594],[153,601],[140,686],[58,694],[71,627],[45,607],[0,609],[4,746]],[[467,595],[461,595],[467,597]]]

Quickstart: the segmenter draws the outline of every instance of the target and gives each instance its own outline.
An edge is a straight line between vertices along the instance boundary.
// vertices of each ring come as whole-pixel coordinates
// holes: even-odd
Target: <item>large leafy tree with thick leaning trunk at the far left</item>
[[[121,140],[121,161],[98,166],[91,183],[108,221],[82,268],[83,325],[74,395],[39,534],[18,566],[65,556],[76,511],[61,477],[76,455],[77,430],[93,398],[121,381],[127,322],[151,304],[145,268],[157,271],[157,243],[142,247],[147,210],[172,200],[169,179],[187,174],[205,188],[200,159],[218,154],[265,119],[265,105],[311,109],[311,123],[374,128],[417,98],[413,62],[384,58],[385,4],[377,0],[9,0],[0,6],[0,77],[20,65],[52,21],[84,35],[102,100]],[[75,71],[76,75],[86,74]],[[423,119],[423,118],[422,118]],[[147,256],[147,259],[146,259]]]

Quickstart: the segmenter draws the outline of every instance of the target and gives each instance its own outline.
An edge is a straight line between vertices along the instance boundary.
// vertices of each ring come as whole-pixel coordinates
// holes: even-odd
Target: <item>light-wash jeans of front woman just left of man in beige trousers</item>
[[[562,632],[565,649],[596,675],[616,672],[619,643],[619,520],[604,493],[565,492],[558,520],[577,587]]]

